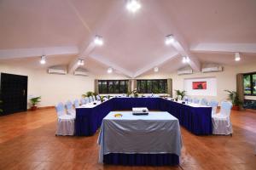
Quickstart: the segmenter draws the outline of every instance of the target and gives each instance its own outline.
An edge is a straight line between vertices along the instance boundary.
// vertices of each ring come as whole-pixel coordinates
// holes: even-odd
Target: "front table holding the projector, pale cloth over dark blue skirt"
[[[101,163],[173,166],[179,164],[182,138],[177,118],[166,111],[145,116],[111,111],[103,118],[98,144]]]

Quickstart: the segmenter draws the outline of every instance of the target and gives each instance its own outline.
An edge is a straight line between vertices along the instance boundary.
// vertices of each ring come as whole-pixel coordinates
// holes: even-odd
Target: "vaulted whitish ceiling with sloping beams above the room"
[[[32,61],[45,54],[47,66],[65,64],[73,71],[77,59],[85,59],[85,68],[96,74],[113,67],[138,77],[154,66],[177,71],[187,66],[182,56],[195,71],[202,63],[237,65],[235,52],[241,52],[239,64],[256,62],[255,0],[140,0],[135,14],[125,3],[1,0],[0,63],[32,58],[34,67]],[[177,44],[165,45],[168,34]],[[92,44],[95,35],[103,37],[102,47]]]

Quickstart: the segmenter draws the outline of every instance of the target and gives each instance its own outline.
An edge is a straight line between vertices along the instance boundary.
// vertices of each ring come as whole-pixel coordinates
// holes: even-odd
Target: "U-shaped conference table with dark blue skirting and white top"
[[[212,107],[182,104],[162,98],[118,97],[104,102],[81,105],[76,108],[75,135],[90,136],[96,133],[110,111],[131,111],[132,107],[147,107],[152,111],[167,111],[177,117],[179,124],[196,135],[212,134]]]

